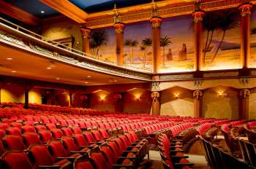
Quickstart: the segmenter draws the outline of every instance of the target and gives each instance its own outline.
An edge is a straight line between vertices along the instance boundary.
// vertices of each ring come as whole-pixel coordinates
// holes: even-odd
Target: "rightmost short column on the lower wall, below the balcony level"
[[[249,95],[250,95],[249,90],[247,89],[240,90],[239,119],[249,119]]]

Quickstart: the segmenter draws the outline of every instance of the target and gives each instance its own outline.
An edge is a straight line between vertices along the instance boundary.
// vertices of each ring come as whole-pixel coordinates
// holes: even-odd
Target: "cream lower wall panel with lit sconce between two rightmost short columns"
[[[219,97],[218,93],[223,93]],[[203,117],[238,119],[238,92],[228,87],[214,87],[203,93]]]

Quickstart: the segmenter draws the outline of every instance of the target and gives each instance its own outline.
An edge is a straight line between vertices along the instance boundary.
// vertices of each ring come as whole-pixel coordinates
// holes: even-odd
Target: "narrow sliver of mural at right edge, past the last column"
[[[251,19],[251,57],[249,58],[249,67],[256,67],[256,11],[252,12]]]

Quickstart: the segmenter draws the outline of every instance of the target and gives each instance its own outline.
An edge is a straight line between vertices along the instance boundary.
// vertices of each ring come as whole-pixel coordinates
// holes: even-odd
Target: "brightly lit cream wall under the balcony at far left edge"
[[[1,88],[1,102],[24,103],[24,89],[16,85],[5,85]]]

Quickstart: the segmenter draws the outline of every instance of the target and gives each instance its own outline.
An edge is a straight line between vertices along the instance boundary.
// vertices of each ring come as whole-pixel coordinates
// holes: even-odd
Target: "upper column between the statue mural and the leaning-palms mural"
[[[198,10],[192,13],[194,23],[194,69],[201,71],[203,68],[203,16],[205,12]]]

